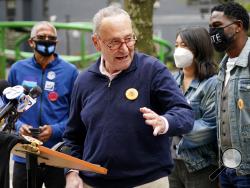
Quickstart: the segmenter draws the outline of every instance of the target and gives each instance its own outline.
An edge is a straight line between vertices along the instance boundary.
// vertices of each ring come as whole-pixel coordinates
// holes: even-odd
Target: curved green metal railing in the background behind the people
[[[30,35],[30,30],[36,22],[34,21],[13,21],[0,22],[0,78],[5,78],[7,60],[13,61],[31,57],[33,53],[20,50],[20,46],[24,44]],[[86,35],[92,33],[92,24],[89,22],[77,23],[59,23],[53,22],[57,30],[77,30],[80,35],[80,54],[79,55],[62,55],[62,57],[70,63],[76,64],[79,67],[86,67],[90,62],[95,61],[100,54],[98,52],[89,53],[87,51]],[[14,40],[13,47],[7,48],[6,36],[8,31],[24,31],[17,39]],[[154,37],[154,43],[157,45],[157,57],[162,61],[172,55],[172,45],[159,37]]]

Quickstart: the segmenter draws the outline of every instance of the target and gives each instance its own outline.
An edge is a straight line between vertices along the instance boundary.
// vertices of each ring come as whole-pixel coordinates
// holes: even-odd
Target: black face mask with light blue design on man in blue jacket
[[[56,50],[55,41],[38,40],[35,41],[35,44],[36,44],[35,50],[42,56],[48,57],[55,53]]]

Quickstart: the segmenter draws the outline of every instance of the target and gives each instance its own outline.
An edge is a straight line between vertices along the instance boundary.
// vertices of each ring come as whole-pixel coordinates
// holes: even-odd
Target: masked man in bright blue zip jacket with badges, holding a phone
[[[29,110],[21,114],[15,129],[20,135],[37,137],[44,146],[51,148],[62,141],[78,70],[55,53],[57,31],[51,23],[35,24],[28,42],[34,50],[33,57],[14,63],[8,81],[12,86],[22,85],[29,89],[39,86],[42,94]],[[13,159],[13,188],[27,187],[25,159],[18,156]],[[63,169],[39,167],[36,178],[37,188],[43,183],[47,188],[65,187]]]

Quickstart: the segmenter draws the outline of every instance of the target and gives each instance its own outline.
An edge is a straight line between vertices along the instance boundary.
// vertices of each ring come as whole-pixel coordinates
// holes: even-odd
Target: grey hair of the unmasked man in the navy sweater
[[[103,18],[118,16],[121,14],[127,16],[131,20],[129,14],[125,10],[119,8],[118,6],[111,5],[103,9],[100,9],[93,18],[93,34],[99,32]]]

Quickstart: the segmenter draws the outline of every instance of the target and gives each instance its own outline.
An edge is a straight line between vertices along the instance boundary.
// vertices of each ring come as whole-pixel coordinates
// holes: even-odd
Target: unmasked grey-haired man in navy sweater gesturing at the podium
[[[101,52],[77,78],[64,133],[70,155],[101,165],[107,175],[67,170],[67,188],[168,187],[170,136],[193,127],[193,112],[166,66],[135,52],[128,13],[109,6],[94,18]]]

